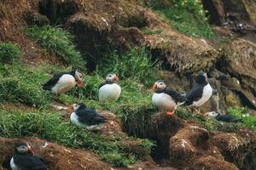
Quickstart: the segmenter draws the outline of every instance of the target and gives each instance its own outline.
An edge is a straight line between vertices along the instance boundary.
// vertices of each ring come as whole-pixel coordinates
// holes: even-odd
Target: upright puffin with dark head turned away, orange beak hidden
[[[197,111],[196,108],[206,103],[212,96],[212,87],[207,79],[207,73],[200,71],[196,77],[194,87],[186,96],[187,100],[185,105],[188,105],[189,108],[195,111]],[[199,111],[197,112],[200,113]]]

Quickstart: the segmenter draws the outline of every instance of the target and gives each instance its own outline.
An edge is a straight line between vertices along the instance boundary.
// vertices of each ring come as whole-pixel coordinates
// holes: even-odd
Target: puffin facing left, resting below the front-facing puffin
[[[83,103],[70,105],[68,111],[71,112],[71,122],[88,130],[99,130],[103,123],[107,122],[106,118],[99,115],[95,109],[89,109]]]

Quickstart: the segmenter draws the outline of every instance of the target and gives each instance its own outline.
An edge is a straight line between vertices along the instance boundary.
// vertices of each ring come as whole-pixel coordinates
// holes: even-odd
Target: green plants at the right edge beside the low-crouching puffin
[[[241,107],[239,109],[230,108],[228,110],[230,115],[236,116],[242,120],[242,125],[249,127],[256,132],[256,116],[247,114],[247,108]]]

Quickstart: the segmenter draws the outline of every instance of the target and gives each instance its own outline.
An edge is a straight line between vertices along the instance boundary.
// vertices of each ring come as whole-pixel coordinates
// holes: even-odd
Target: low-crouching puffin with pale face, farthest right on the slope
[[[215,118],[219,122],[242,122],[241,119],[231,115],[220,115],[216,111],[207,112],[204,116]]]

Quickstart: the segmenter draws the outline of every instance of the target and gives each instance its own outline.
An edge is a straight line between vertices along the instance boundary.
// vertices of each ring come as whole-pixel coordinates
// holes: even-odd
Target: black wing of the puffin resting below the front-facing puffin
[[[100,116],[94,109],[84,109],[82,111],[77,111],[76,115],[79,116],[79,122],[89,126],[106,122],[106,118]]]

